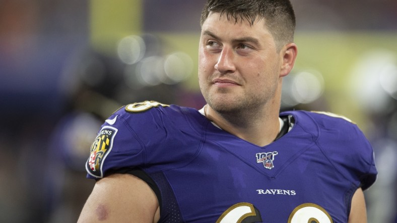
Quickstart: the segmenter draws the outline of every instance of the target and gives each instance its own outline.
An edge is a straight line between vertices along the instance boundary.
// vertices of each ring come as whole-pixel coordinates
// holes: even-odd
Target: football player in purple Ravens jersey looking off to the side
[[[279,113],[294,66],[288,0],[209,0],[196,110],[156,101],[111,115],[86,163],[79,222],[366,222],[373,151],[350,120]]]

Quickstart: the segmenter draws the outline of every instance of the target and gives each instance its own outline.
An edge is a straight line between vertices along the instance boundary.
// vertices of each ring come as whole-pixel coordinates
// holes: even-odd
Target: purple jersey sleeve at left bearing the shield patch
[[[186,140],[196,138],[188,137],[194,134],[198,135],[191,131],[180,107],[154,101],[129,104],[102,125],[86,162],[87,177],[102,178],[108,171],[121,168],[139,168],[148,173],[177,168],[195,153],[180,150],[187,145],[200,146]]]

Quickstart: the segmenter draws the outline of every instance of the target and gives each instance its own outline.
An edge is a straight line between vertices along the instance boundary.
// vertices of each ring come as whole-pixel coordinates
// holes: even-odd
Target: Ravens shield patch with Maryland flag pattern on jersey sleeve
[[[106,156],[112,150],[113,139],[117,129],[105,126],[99,132],[94,143],[91,145],[90,157],[86,163],[87,172],[94,177],[103,177],[102,166]]]

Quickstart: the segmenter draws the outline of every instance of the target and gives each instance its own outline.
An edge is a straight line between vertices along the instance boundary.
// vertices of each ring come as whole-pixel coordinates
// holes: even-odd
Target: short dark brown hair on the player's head
[[[295,13],[289,0],[207,0],[201,26],[211,12],[225,14],[235,23],[245,20],[253,25],[255,19],[264,19],[278,50],[294,41]]]

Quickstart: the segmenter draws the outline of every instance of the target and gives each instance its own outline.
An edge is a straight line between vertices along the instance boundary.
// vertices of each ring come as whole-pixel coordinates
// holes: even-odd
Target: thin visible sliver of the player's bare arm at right
[[[352,206],[348,223],[366,223],[367,210],[365,207],[365,199],[363,190],[358,188],[352,198]]]

